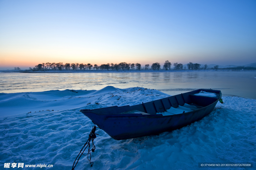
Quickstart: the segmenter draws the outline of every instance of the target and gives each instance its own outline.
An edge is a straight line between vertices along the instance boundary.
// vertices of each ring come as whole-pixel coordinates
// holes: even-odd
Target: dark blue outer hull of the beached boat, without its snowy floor
[[[201,90],[201,89],[199,89]],[[184,93],[185,94],[185,93]],[[191,97],[190,94],[188,94],[188,98],[190,98],[186,102],[186,94],[183,94],[183,101],[184,103],[191,102],[191,98],[199,98],[199,99],[205,99],[203,97],[197,97],[193,96]],[[193,93],[191,93],[193,94]],[[175,98],[177,103],[180,104],[181,101],[177,100],[179,97],[169,97],[169,98]],[[108,110],[104,114],[97,113],[97,109],[94,110],[81,110],[81,112],[86,115],[89,119],[92,120],[93,123],[95,123],[97,126],[99,126],[100,129],[104,130],[106,133],[108,133],[113,139],[115,140],[124,140],[124,139],[131,139],[131,138],[137,138],[142,136],[148,136],[148,135],[155,135],[166,131],[172,131],[175,129],[182,128],[184,126],[187,126],[195,121],[201,120],[214,109],[216,106],[218,100],[221,98],[221,92],[219,91],[219,97],[214,98],[214,100],[211,99],[211,104],[208,104],[204,106],[204,102],[202,101],[201,105],[203,105],[202,108],[186,112],[186,113],[180,113],[180,114],[174,114],[174,115],[167,115],[163,116],[162,114],[108,114]],[[168,99],[168,98],[165,98]],[[152,101],[155,108],[155,112],[157,112],[157,108],[161,109],[161,106],[163,106],[164,110],[168,109],[167,104],[164,104],[165,99],[160,99],[159,103],[162,103],[160,106],[156,105],[157,101]],[[206,98],[209,99],[209,98]],[[210,100],[210,99],[209,99]],[[172,101],[172,99],[168,99],[168,101]],[[212,102],[213,101],[213,102]],[[144,109],[144,112],[147,112],[147,108],[145,106],[148,106],[150,102],[143,103],[142,107]],[[170,105],[172,105],[172,102],[169,102]],[[207,104],[207,103],[206,103]],[[165,105],[165,106],[164,106]],[[173,104],[174,105],[174,104]],[[136,105],[135,105],[136,106]],[[127,106],[123,107],[113,107],[112,110],[121,110],[121,111],[129,111],[136,108],[136,110],[139,110],[139,108],[142,108],[141,106]],[[120,108],[120,109],[119,109]],[[102,108],[104,109],[104,108]],[[111,110],[111,108],[109,109]],[[95,113],[95,112],[96,113]],[[120,112],[121,112],[120,111]],[[141,111],[143,111],[141,109]]]

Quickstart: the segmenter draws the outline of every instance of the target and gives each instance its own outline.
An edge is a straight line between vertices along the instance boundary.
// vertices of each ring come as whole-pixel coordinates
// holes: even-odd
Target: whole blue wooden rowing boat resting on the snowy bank
[[[208,115],[219,100],[222,102],[220,90],[198,89],[133,106],[80,112],[113,139],[124,140],[187,126]]]

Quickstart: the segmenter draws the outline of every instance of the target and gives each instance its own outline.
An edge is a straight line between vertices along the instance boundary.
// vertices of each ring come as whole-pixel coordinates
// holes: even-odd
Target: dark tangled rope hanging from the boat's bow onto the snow
[[[79,154],[77,155],[77,158],[78,158],[78,156],[80,155],[79,158],[78,158],[78,160],[77,160],[77,158],[76,158],[77,163],[78,163],[80,157],[81,157],[82,155],[84,155],[83,152],[84,152],[84,151],[86,150],[86,148],[88,147],[88,153],[87,153],[86,155],[84,155],[84,156],[87,156],[87,159],[88,159],[88,161],[90,161],[90,164],[92,163],[91,166],[93,165],[93,162],[91,162],[91,151],[94,152],[94,150],[95,150],[95,145],[94,145],[94,143],[93,143],[93,140],[96,138],[96,135],[99,135],[99,134],[95,133],[96,128],[99,128],[99,127],[96,127],[96,125],[94,124],[94,126],[92,127],[92,131],[91,131],[90,134],[89,134],[89,138],[88,138],[87,142],[83,145],[81,151],[80,151]],[[92,141],[92,149],[91,149],[91,150],[90,150],[90,146],[91,146],[91,145],[90,145],[90,141]],[[86,145],[87,145],[87,146],[86,146]],[[85,147],[85,146],[86,146],[86,147]],[[85,147],[85,148],[84,148],[84,147]],[[83,150],[83,148],[84,148],[84,150]],[[83,150],[83,152],[82,152],[82,150]],[[90,156],[89,156],[89,155],[90,155]],[[73,163],[72,170],[74,170],[75,167],[77,166],[76,160],[75,160],[74,163]],[[74,166],[75,163],[76,163],[76,165]]]

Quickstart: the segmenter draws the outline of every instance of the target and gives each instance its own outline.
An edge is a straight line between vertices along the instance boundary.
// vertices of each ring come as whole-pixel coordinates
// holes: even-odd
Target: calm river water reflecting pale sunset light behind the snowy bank
[[[0,73],[0,93],[144,87],[175,95],[196,89],[256,99],[255,71]]]

